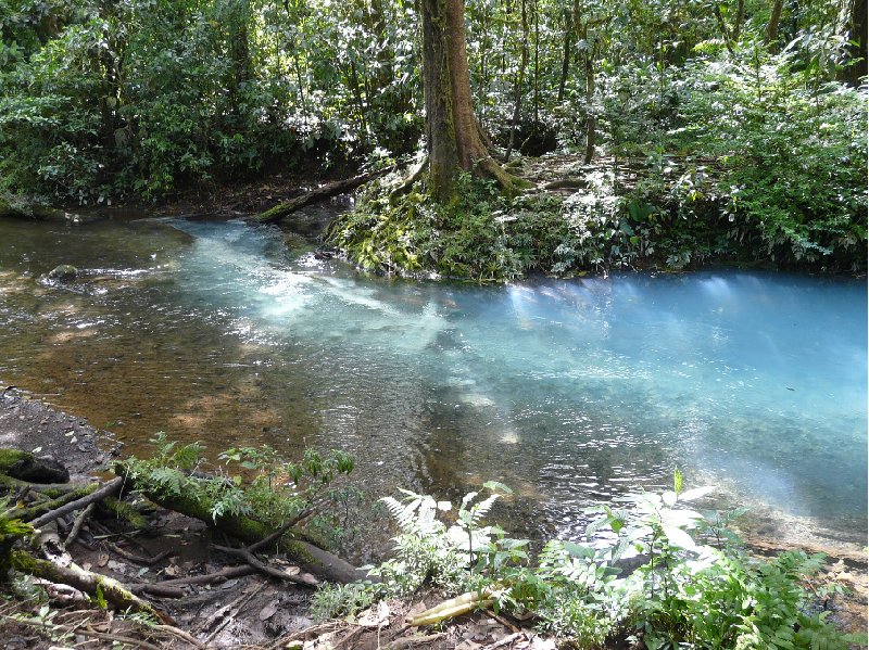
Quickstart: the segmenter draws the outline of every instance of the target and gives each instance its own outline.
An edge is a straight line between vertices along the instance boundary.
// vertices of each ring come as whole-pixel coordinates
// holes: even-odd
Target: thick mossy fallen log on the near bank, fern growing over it
[[[147,485],[137,482],[135,476],[126,473],[123,463],[117,463],[115,472],[122,473],[128,487],[141,492],[159,506],[203,521],[243,543],[255,544],[270,537],[274,533],[274,530],[268,525],[248,517],[223,515],[215,520],[212,515],[213,504],[201,493],[198,494],[197,490],[186,490],[178,495],[166,496],[151,492]],[[367,578],[367,572],[356,569],[347,560],[342,560],[335,553],[330,553],[310,541],[299,539],[302,535],[301,531],[289,531],[281,537],[278,548],[285,551],[303,571],[318,575],[326,581],[341,584]]]

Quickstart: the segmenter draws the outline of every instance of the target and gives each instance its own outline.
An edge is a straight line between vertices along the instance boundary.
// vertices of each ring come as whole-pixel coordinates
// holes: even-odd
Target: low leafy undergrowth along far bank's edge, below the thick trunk
[[[754,214],[754,204],[723,192],[720,179],[703,165],[669,163],[630,191],[603,167],[589,174],[585,183],[568,197],[509,197],[493,183],[465,175],[453,202],[441,204],[420,183],[391,197],[387,179],[368,187],[357,207],[338,217],[326,243],[365,270],[475,282],[531,272],[683,270],[713,262],[848,271],[866,267],[859,245],[866,241],[865,228],[841,218],[835,233],[820,221],[814,230],[770,228]]]

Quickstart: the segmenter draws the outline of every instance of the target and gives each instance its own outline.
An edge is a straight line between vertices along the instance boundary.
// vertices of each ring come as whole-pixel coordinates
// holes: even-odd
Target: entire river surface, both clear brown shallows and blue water
[[[81,275],[50,285],[59,264]],[[499,480],[536,538],[679,467],[709,506],[752,508],[752,534],[866,543],[865,280],[479,288],[363,277],[239,221],[0,220],[0,380],[136,454],[161,430],[213,454],[341,447],[373,497]]]

